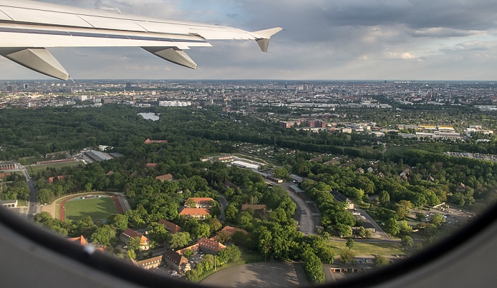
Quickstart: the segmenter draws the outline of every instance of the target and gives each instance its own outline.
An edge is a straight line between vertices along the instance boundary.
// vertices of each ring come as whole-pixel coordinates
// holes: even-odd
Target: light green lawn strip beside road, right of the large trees
[[[345,246],[346,242],[329,242],[329,245],[334,248],[337,255],[344,249],[349,249]],[[405,252],[400,249],[400,245],[391,242],[356,242],[354,247],[356,255],[404,255]]]

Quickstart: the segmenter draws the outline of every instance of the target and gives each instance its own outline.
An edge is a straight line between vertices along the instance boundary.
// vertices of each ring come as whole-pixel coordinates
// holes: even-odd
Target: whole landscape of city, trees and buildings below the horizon
[[[493,203],[496,110],[495,82],[3,81],[1,204],[167,277],[336,282]]]

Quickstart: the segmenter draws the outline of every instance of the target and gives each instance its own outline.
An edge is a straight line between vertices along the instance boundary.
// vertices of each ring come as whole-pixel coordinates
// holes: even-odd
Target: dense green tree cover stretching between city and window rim
[[[146,120],[138,115],[139,112],[155,112],[160,114],[160,119]],[[168,143],[144,144],[146,139],[168,140]],[[386,141],[390,141],[389,145],[404,140],[391,135]],[[283,129],[276,121],[226,114],[219,107],[144,109],[104,105],[80,109],[12,109],[0,114],[2,161],[27,164],[24,157],[44,160],[50,153],[68,151],[74,155],[84,148],[98,145],[113,146],[111,152],[124,155],[86,166],[48,168],[31,177],[36,181],[41,203],[80,191],[119,191],[125,193],[132,210],[124,215],[112,215],[103,224],[93,223],[91,218],[60,221],[44,212],[35,215],[35,222],[64,236],[84,235],[94,243],[106,245],[118,257],[131,258],[146,255],[119,250],[119,233],[126,228],[149,228],[155,247],[185,247],[196,238],[219,234],[223,225],[232,225],[245,229],[249,236],[219,235],[223,242],[236,247],[229,253],[223,252],[226,255],[220,257],[225,260],[222,262],[230,259],[236,262],[238,249],[258,252],[266,260],[300,261],[308,279],[315,282],[324,281],[322,263],[332,263],[337,256],[329,245],[329,238],[349,238],[352,228],[361,226],[345,209],[344,203],[334,199],[331,191],[339,191],[351,198],[357,206],[368,210],[375,220],[385,222],[389,234],[406,242],[410,232],[404,222],[408,211],[413,208],[440,203],[471,206],[475,201],[490,203],[496,198],[496,162],[443,154],[445,151],[481,150],[481,147],[492,151],[489,145],[427,144],[405,140],[403,143],[408,146],[383,154],[383,145],[376,142],[377,139],[364,134]],[[283,178],[288,178],[290,173],[305,177],[300,188],[317,203],[322,214],[319,235],[303,235],[297,230],[294,219],[297,206],[283,188],[268,186],[263,177],[253,171],[228,167],[217,161],[212,164],[200,161],[207,155],[235,153],[235,144],[239,143],[265,144],[273,147],[275,152],[281,149],[289,151],[280,153],[275,159],[284,164],[274,167],[275,174]],[[310,161],[316,156],[322,157],[319,161]],[[333,156],[341,157],[339,163],[324,164]],[[158,166],[147,168],[147,163],[157,163]],[[273,164],[266,168],[271,166]],[[358,172],[369,167],[374,173]],[[176,181],[155,181],[155,176],[163,174],[172,174]],[[70,177],[47,183],[48,178],[60,175]],[[226,188],[226,181],[236,188]],[[1,199],[28,198],[29,188],[21,176],[13,174],[4,182]],[[221,195],[229,201],[224,223],[218,220]],[[212,217],[205,220],[180,217],[178,209],[190,197],[213,198],[216,203],[213,204]],[[242,204],[266,204],[268,213],[257,215],[251,210],[242,211]],[[160,219],[180,225],[185,234],[170,235],[157,224]],[[432,223],[434,226],[437,224]],[[364,228],[360,229],[359,235],[368,238]],[[350,255],[340,257],[346,262]],[[202,274],[212,270],[212,265],[202,265],[196,265],[187,277],[197,281]]]

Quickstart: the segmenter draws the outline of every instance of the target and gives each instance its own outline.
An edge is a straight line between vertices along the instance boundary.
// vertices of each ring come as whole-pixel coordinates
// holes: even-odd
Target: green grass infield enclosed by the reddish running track
[[[116,205],[112,198],[89,198],[84,200],[67,201],[64,207],[65,220],[79,220],[90,216],[93,220],[105,219],[111,214],[116,214]]]

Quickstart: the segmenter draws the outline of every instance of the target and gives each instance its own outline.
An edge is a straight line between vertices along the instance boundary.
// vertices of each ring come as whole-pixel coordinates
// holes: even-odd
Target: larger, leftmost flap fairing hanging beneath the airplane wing
[[[0,48],[0,55],[38,73],[60,80],[69,74],[45,48]]]

